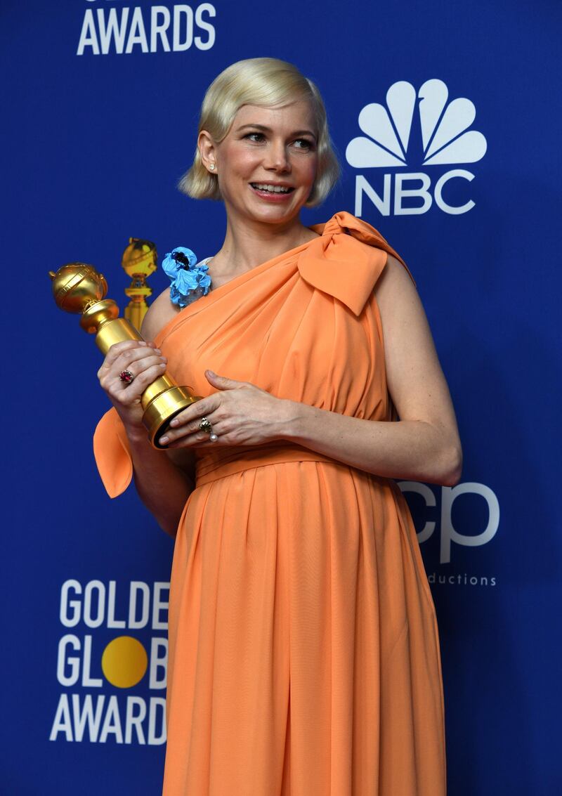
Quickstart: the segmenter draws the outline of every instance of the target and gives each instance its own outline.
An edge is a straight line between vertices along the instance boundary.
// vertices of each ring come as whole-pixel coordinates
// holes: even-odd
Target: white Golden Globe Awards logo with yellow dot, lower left
[[[168,673],[169,591],[160,581],[64,581],[57,652],[63,690],[49,740],[166,743],[166,699],[159,694]]]

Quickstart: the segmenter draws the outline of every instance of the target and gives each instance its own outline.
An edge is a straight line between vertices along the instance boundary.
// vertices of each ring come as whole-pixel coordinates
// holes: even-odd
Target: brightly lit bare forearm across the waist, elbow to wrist
[[[285,401],[280,437],[384,478],[453,486],[462,452],[457,435],[421,420],[381,422]]]

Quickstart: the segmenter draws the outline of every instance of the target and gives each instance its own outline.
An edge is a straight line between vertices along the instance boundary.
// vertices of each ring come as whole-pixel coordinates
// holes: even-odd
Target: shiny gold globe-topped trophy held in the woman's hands
[[[126,318],[119,318],[115,301],[105,298],[107,282],[92,265],[67,263],[57,273],[49,271],[49,276],[57,306],[65,312],[82,315],[80,326],[88,334],[96,335],[96,344],[104,356],[114,343],[142,340]],[[158,449],[166,447],[158,440],[170,420],[200,397],[192,396],[188,388],[180,387],[167,373],[153,381],[141,396],[142,423],[148,430],[150,444]]]

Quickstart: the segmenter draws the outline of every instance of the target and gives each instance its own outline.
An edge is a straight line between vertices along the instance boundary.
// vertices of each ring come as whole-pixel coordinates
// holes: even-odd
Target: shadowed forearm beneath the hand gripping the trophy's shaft
[[[194,484],[164,451],[156,451],[146,439],[146,431],[128,431],[133,460],[133,478],[142,503],[162,530],[175,537],[178,521]]]

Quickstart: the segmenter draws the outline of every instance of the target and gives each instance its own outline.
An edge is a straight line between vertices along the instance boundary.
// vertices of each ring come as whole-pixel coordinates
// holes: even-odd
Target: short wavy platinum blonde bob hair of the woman
[[[330,140],[322,96],[312,80],[293,64],[278,58],[248,58],[228,66],[207,89],[197,135],[206,130],[219,143],[243,105],[274,107],[302,99],[310,102],[317,127],[318,171],[305,203],[306,207],[314,207],[326,199],[338,181],[340,166]],[[221,199],[217,175],[205,168],[198,147],[178,188],[193,199]]]

